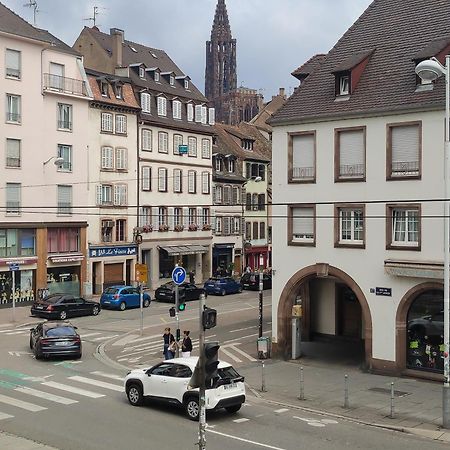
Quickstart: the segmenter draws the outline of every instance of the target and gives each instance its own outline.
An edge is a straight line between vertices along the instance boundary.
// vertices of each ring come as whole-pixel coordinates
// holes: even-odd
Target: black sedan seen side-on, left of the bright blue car
[[[31,315],[46,319],[66,320],[68,317],[96,316],[100,305],[71,294],[52,294],[31,306]]]

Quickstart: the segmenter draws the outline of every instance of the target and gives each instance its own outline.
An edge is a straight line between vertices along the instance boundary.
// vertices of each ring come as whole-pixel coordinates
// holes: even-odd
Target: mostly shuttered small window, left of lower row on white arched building
[[[291,206],[288,219],[289,245],[315,245],[315,207]]]

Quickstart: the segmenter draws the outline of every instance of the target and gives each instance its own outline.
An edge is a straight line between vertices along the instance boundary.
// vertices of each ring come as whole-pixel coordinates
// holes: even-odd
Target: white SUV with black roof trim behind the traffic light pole
[[[135,369],[125,377],[125,392],[133,406],[144,399],[157,398],[182,405],[191,420],[198,420],[199,393],[188,384],[194,373],[198,357],[175,358],[147,369]],[[225,408],[230,413],[239,411],[245,402],[244,377],[228,363],[219,362],[218,379],[213,388],[206,390],[206,409]]]

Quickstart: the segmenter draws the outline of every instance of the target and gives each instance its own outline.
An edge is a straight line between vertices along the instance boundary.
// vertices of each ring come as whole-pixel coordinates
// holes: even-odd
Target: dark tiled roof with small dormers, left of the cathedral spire
[[[85,27],[83,32],[90,33],[105,52],[110,57],[112,56],[112,36],[110,34],[102,33],[97,27]],[[142,63],[147,68],[158,68],[161,73],[173,72],[176,77],[185,76],[164,50],[158,50],[127,40],[124,41],[122,50],[124,66]],[[170,96],[179,96],[205,103],[208,102],[208,99],[194,86],[192,81],[189,81],[189,89],[187,90],[184,88],[184,80],[181,78],[175,81],[175,86],[171,86],[169,81],[162,75],[160,82],[155,82],[151,79],[150,74],[143,80],[139,77],[138,71],[134,70],[130,70],[130,78],[137,86],[142,86],[153,91],[163,92]]]

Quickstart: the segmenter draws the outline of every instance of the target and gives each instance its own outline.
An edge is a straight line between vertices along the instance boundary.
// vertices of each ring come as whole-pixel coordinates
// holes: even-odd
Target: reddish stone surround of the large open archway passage
[[[293,300],[300,286],[313,278],[335,277],[345,283],[355,293],[364,318],[364,345],[365,360],[369,369],[372,368],[372,316],[370,314],[369,304],[358,284],[347,273],[324,263],[318,263],[312,266],[304,267],[295,273],[284,287],[278,303],[278,342],[276,350],[285,358],[290,357],[291,353],[291,313]]]

